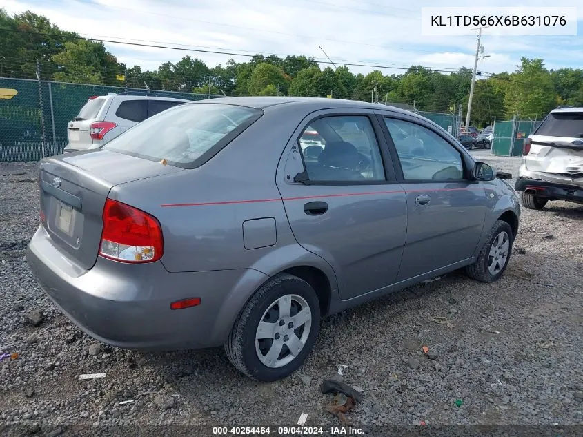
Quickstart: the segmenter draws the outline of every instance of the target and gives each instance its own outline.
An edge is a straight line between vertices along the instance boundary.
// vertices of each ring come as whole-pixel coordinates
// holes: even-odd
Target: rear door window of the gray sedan
[[[375,130],[364,115],[315,119],[306,126],[298,142],[310,181],[385,180]]]

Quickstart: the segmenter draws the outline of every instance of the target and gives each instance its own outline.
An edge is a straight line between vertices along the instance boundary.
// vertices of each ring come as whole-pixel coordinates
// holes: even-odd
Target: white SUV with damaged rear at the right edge
[[[524,139],[515,189],[526,208],[549,200],[583,204],[583,108],[552,110]]]

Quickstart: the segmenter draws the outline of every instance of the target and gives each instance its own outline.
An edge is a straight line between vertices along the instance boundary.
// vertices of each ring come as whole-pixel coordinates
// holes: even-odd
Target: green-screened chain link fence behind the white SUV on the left
[[[0,77],[0,162],[39,161],[60,155],[68,143],[67,123],[89,97],[126,91],[189,100],[221,97]]]

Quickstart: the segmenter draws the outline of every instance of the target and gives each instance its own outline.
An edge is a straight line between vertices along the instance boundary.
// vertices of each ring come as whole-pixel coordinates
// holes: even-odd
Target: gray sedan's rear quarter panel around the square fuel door
[[[324,260],[295,241],[275,184],[281,154],[304,115],[293,105],[267,108],[203,166],[121,184],[110,197],[158,218],[164,235],[161,262],[170,272],[250,268],[273,275],[313,265],[333,277]],[[246,249],[244,222],[262,218],[275,221],[275,244]]]

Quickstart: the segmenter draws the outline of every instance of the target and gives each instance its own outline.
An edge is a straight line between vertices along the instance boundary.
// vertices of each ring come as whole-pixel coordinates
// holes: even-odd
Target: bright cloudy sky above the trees
[[[8,13],[27,9],[63,30],[103,39],[152,41],[201,50],[307,55],[338,64],[356,62],[408,67],[473,68],[475,37],[424,37],[422,6],[467,6],[466,1],[395,0],[3,0]],[[521,56],[540,57],[548,68],[583,68],[583,3],[580,0],[517,1],[512,6],[577,6],[578,35],[497,37],[484,31],[484,72],[515,70]],[[489,0],[488,6],[506,6]],[[525,6],[525,13],[528,12]],[[106,43],[119,61],[156,69],[186,55],[208,66],[248,58]],[[350,67],[366,74],[374,68]],[[384,74],[402,70],[382,68]]]

